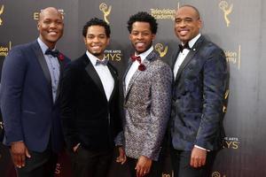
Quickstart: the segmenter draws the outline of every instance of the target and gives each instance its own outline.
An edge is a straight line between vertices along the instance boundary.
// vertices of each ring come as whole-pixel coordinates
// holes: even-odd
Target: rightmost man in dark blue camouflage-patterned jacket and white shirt
[[[227,64],[215,43],[200,35],[199,11],[176,11],[175,32],[182,42],[172,58],[171,158],[175,177],[207,177],[223,142],[223,97]]]

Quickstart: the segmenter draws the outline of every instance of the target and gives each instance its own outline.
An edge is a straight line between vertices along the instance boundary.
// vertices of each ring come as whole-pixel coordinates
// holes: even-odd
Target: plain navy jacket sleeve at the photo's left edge
[[[1,111],[5,143],[23,141],[21,127],[21,94],[27,73],[27,58],[20,48],[13,48],[4,59],[1,79]]]

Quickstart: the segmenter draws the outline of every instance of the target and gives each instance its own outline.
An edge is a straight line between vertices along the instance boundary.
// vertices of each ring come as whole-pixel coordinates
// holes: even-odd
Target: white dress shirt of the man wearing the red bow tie
[[[146,50],[145,52],[139,54],[138,56],[141,58],[141,63],[145,60],[145,58],[153,51],[153,46],[149,49]],[[137,56],[137,55],[136,55]],[[140,65],[140,63],[138,63],[137,60],[135,60],[132,65],[130,65],[130,68],[128,70],[128,73],[126,75],[125,78],[125,84],[126,84],[126,90],[129,87],[129,81],[131,80],[132,76],[134,75],[134,73],[137,72],[138,69],[138,65]]]

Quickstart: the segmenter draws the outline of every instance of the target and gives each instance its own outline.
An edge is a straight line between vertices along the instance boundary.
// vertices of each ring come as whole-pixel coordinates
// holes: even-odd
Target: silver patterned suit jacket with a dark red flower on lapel
[[[170,114],[172,72],[154,50],[143,64],[145,70],[133,74],[127,91],[123,82],[124,148],[129,158],[158,160]]]

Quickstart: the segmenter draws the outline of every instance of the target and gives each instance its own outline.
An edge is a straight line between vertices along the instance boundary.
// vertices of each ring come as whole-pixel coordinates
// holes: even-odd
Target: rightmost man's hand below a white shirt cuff
[[[194,147],[192,150],[191,165],[198,168],[206,164],[207,150]]]

